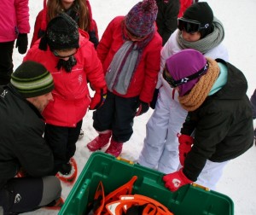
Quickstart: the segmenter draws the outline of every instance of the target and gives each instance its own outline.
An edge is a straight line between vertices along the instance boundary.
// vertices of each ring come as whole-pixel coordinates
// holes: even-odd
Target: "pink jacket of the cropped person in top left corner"
[[[28,0],[1,0],[0,43],[15,41],[18,33],[29,33]]]

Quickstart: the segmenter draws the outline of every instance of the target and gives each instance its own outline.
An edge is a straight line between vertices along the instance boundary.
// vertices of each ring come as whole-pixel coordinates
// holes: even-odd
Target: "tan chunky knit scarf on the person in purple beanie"
[[[218,78],[218,63],[211,58],[207,58],[209,68],[206,74],[201,76],[200,80],[195,84],[193,89],[185,96],[179,96],[178,100],[182,107],[187,111],[195,111],[205,102],[212,85]]]

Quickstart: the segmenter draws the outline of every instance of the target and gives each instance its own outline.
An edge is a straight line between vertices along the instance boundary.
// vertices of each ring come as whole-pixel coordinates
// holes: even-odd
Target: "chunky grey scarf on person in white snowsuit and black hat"
[[[218,46],[224,40],[224,26],[222,23],[214,17],[212,21],[213,32],[208,34],[205,38],[201,38],[195,42],[189,42],[183,39],[182,32],[178,30],[177,32],[177,44],[180,45],[182,49],[195,49],[205,54],[209,50]]]

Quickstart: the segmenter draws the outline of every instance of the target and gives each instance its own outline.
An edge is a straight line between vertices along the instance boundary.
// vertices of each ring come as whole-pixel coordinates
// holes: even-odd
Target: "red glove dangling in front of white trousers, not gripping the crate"
[[[179,161],[182,166],[184,166],[184,160],[191,150],[192,144],[194,143],[194,138],[188,135],[178,134],[178,152],[179,152]]]

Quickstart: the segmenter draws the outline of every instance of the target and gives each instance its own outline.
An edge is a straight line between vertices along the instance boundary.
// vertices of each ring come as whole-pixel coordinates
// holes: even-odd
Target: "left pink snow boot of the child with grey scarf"
[[[111,131],[103,131],[103,133],[100,133],[98,137],[87,144],[87,148],[92,152],[99,150],[108,144],[110,137]]]

